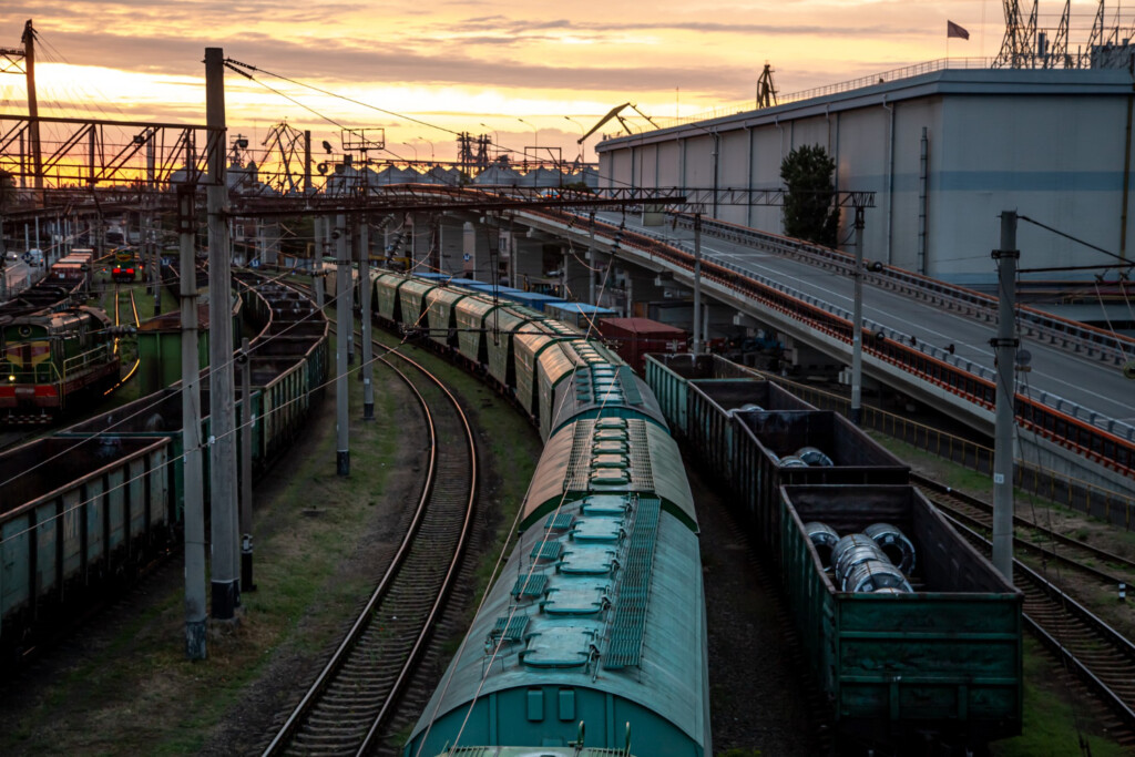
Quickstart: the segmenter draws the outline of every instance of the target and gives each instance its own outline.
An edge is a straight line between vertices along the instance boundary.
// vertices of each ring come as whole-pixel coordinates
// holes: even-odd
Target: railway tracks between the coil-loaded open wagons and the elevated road
[[[913,478],[958,532],[990,556],[992,546],[983,532],[990,528],[992,507],[930,479]],[[1135,569],[1135,563],[1124,557],[1053,533],[1027,519],[1015,520],[1018,527],[1063,545],[1065,549],[1057,552],[1052,541],[1042,546],[1029,539],[1014,539],[1015,547],[1039,553],[1048,561],[1107,582],[1121,580],[1116,578],[1116,569]],[[1085,564],[1085,560],[1103,560],[1115,567],[1101,570]],[[1014,583],[1025,596],[1024,621],[1028,630],[1102,705],[1101,721],[1112,738],[1125,747],[1135,747],[1135,644],[1019,558],[1014,558]]]

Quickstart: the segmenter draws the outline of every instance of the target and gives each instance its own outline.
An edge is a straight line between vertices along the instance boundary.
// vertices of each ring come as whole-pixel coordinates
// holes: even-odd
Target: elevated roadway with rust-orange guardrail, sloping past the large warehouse
[[[692,230],[681,225],[646,227],[631,213],[625,219],[620,213],[598,213],[595,229],[580,218],[545,213],[521,213],[520,220],[570,238],[578,252],[595,250],[600,261],[611,255],[619,235],[614,253],[621,264],[670,271],[676,285],[692,285]],[[622,235],[621,225],[625,227]],[[850,364],[852,280],[848,266],[839,260],[846,256],[831,251],[834,260],[789,254],[780,246],[791,241],[751,229],[738,239],[724,226],[703,229],[704,294],[716,306],[732,308],[741,318],[748,316]],[[715,238],[714,233],[731,238]],[[865,375],[991,435],[994,379],[989,340],[997,330],[995,305],[975,293],[951,291],[928,279],[902,284],[901,274],[868,277],[865,283]],[[928,293],[935,288],[942,292]],[[765,296],[768,293],[772,296]],[[1135,359],[1135,348],[1129,340],[1116,342],[1058,319],[1034,320],[1025,319],[1022,328],[1032,363],[1018,381],[1023,423],[1018,459],[1135,493],[1130,468],[1135,381],[1121,370],[1125,361]],[[1023,398],[1027,399],[1023,403]]]

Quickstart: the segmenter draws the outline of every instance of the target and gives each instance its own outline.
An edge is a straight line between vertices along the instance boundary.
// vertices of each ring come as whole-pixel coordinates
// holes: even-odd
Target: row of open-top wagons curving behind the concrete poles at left
[[[245,319],[259,329],[247,361],[253,392],[237,410],[257,419],[251,454],[262,472],[322,395],[328,323],[296,291],[234,277]],[[207,384],[201,407],[209,407]],[[203,426],[208,438],[208,418]],[[3,657],[179,542],[180,428],[174,387],[0,454]]]

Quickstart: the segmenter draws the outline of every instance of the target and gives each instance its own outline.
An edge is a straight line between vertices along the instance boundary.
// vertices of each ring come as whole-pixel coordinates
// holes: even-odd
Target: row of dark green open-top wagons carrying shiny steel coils
[[[981,754],[1018,734],[1023,595],[910,486],[894,455],[842,417],[746,373],[709,355],[647,362],[675,436],[724,486],[779,573],[841,742]],[[829,464],[788,464],[807,447]],[[902,589],[854,591],[827,555],[832,537],[877,524],[909,539],[914,566],[896,577]],[[896,563],[880,567],[909,565]]]

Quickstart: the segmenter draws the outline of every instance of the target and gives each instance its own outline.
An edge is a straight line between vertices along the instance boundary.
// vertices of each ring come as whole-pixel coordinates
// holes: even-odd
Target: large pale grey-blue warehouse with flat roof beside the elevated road
[[[787,104],[607,137],[596,148],[600,186],[776,188],[782,159],[819,144],[836,162],[835,188],[875,192],[866,211],[868,259],[989,286],[1003,209],[1128,256],[1132,72],[948,67],[964,62],[934,61]],[[777,207],[705,212],[782,230]],[[843,211],[844,245],[852,216]],[[1018,246],[1023,268],[1109,260],[1028,224]]]

